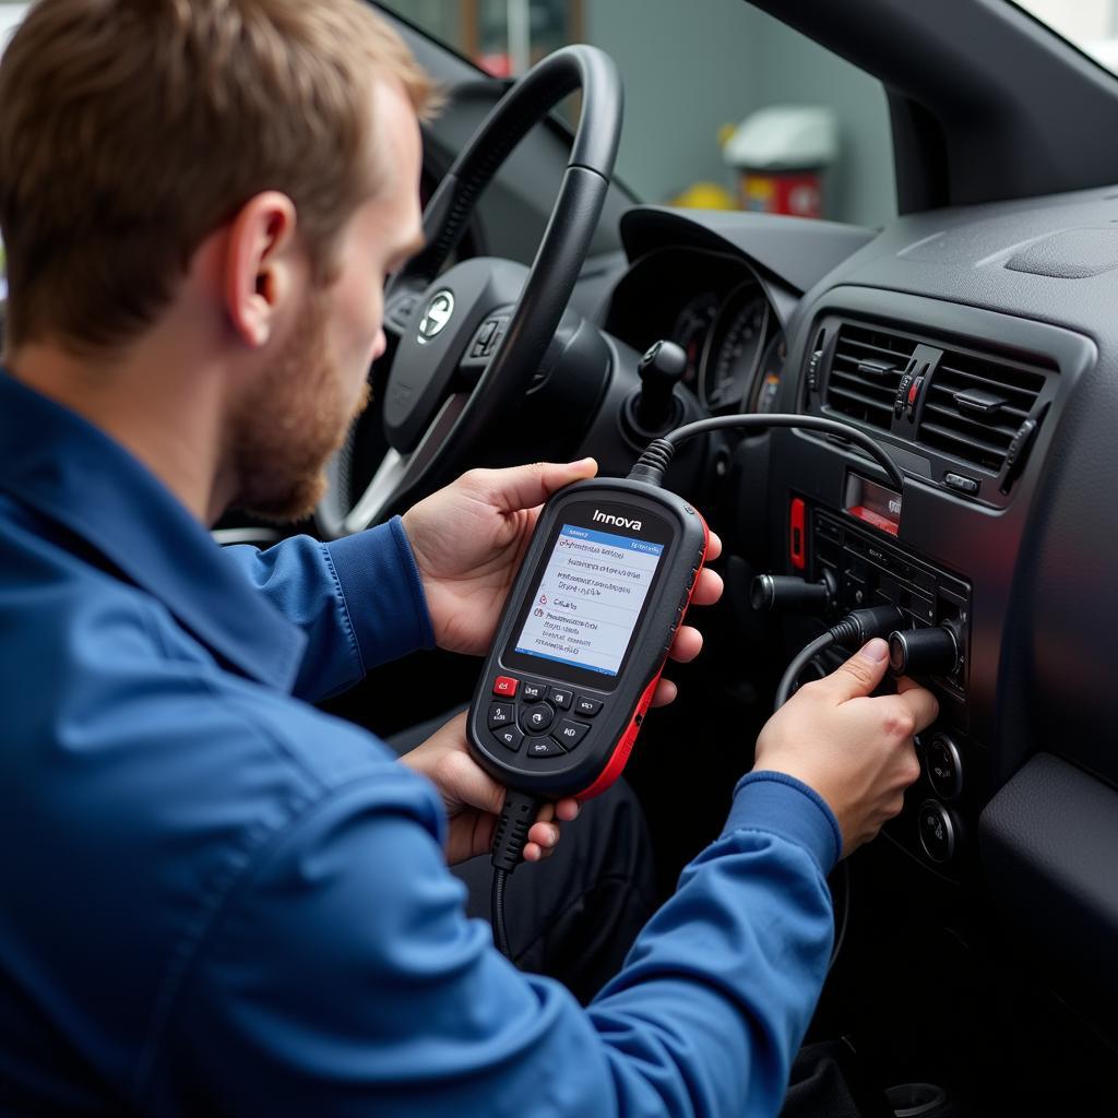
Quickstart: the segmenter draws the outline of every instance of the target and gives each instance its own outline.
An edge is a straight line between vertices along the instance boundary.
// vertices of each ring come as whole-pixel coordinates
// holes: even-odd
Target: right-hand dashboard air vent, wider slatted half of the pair
[[[919,442],[1001,473],[1006,452],[1044,390],[1035,368],[945,350],[928,383]]]

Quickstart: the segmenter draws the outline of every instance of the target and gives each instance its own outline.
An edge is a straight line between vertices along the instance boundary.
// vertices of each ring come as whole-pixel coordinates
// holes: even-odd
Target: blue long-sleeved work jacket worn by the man
[[[584,1010],[466,918],[432,785],[312,705],[432,641],[399,520],[222,550],[0,372],[0,1109],[776,1114],[826,805],[746,777]]]

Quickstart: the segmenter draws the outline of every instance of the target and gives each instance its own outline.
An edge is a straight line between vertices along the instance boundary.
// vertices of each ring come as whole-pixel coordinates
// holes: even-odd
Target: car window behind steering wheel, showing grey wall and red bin
[[[625,82],[617,174],[644,201],[861,225],[897,214],[881,83],[745,0],[382,7],[499,76],[568,42],[605,49]]]

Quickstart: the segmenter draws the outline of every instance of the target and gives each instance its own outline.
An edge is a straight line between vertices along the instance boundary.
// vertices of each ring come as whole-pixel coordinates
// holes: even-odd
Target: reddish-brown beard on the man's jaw
[[[234,417],[236,506],[278,522],[310,515],[326,491],[325,465],[369,397],[366,382],[356,405],[349,404],[326,337],[325,299],[312,296],[286,347]]]

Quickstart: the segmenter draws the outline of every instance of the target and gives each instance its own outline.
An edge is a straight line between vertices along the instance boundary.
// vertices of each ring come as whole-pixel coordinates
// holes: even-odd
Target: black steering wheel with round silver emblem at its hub
[[[440,275],[498,169],[579,88],[578,130],[531,267],[481,257]],[[385,296],[385,330],[397,340],[382,404],[389,449],[350,506],[358,426],[351,427],[328,467],[329,490],[315,512],[325,538],[359,532],[455,476],[502,404],[527,392],[601,215],[623,105],[613,59],[596,47],[565,47],[512,86],[455,160],[424,210],[426,247]]]

